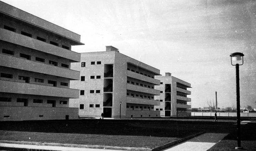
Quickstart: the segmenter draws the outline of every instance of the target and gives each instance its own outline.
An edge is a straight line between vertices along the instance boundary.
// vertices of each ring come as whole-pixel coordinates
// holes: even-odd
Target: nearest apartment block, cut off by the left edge
[[[78,118],[80,35],[0,1],[0,120]]]

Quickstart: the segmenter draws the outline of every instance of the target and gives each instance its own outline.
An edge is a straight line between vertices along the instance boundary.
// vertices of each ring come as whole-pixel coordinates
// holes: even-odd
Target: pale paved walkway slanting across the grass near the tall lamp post
[[[177,144],[164,151],[206,151],[228,134],[204,133],[183,143]]]

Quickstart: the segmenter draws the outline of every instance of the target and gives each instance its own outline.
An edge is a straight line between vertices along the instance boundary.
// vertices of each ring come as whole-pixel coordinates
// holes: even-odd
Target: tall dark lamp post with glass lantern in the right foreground
[[[239,83],[239,66],[244,64],[244,54],[235,52],[230,55],[231,65],[236,66],[236,108],[237,108],[237,147],[235,149],[242,149],[241,147],[241,123],[240,123],[240,83]]]

